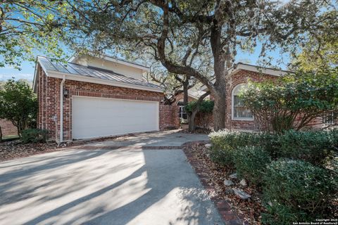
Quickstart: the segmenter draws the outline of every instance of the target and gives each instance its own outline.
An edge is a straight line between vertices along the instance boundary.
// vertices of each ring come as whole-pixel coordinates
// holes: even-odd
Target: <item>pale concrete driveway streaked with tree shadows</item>
[[[165,131],[1,162],[0,223],[223,224],[180,150],[206,139]]]

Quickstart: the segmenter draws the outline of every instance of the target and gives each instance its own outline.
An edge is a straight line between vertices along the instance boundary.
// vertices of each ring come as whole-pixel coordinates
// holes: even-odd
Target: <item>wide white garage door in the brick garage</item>
[[[73,96],[73,139],[158,130],[158,102]]]

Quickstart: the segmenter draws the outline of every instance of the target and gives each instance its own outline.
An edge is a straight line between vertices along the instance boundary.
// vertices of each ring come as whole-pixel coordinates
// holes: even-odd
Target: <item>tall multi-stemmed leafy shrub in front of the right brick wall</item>
[[[242,93],[260,128],[280,133],[302,129],[338,110],[338,68],[297,72],[277,82],[251,83]]]

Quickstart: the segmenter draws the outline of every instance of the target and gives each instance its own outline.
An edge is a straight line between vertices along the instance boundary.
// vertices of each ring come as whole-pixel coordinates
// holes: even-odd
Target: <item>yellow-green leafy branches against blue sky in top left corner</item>
[[[35,60],[36,51],[63,55],[65,27],[54,14],[63,13],[63,1],[0,1],[0,68],[20,68],[21,60]]]

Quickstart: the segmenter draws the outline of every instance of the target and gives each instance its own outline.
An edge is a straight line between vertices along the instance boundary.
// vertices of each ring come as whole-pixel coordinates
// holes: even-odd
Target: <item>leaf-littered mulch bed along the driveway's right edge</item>
[[[182,147],[190,165],[211,195],[211,200],[226,224],[261,224],[261,212],[264,208],[258,191],[251,186],[243,188],[239,185],[239,180],[234,182],[234,186],[225,186],[223,182],[234,173],[234,168],[221,167],[212,162],[208,157],[208,149],[204,146],[206,143],[208,141],[196,141],[185,143]],[[249,200],[237,198],[232,193],[232,188],[241,188],[249,193],[251,198]]]

